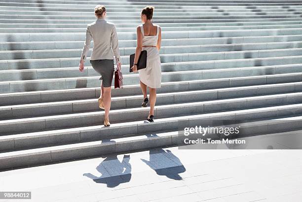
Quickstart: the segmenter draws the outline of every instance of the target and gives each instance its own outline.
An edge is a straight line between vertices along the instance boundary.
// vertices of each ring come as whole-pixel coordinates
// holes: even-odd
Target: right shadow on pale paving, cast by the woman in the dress
[[[149,150],[149,161],[141,159],[158,175],[165,175],[170,179],[183,179],[179,174],[186,172],[186,168],[181,163],[179,158],[170,150],[151,149]]]

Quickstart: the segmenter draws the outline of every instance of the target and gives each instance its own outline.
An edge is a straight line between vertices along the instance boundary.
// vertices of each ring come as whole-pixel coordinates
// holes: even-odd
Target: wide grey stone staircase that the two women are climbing
[[[246,135],[302,127],[301,0],[150,1],[163,38],[154,123],[128,72],[145,3],[0,0],[0,169],[175,145],[181,123],[244,120]],[[89,60],[77,67],[99,3],[117,28],[125,85],[106,128],[99,76]]]

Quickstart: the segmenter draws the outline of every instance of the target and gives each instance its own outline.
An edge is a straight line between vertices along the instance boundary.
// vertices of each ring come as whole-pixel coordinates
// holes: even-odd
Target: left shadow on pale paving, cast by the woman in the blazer
[[[101,176],[84,173],[83,176],[91,178],[96,183],[107,184],[107,187],[116,187],[121,183],[129,182],[131,179],[130,155],[124,155],[122,162],[117,155],[109,156],[96,167]]]

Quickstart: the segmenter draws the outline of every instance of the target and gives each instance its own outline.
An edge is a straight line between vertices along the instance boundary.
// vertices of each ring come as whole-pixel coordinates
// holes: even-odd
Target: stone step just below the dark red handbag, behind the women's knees
[[[213,88],[226,88],[226,87],[246,87],[246,83],[241,82],[234,85],[233,81],[230,85],[229,79],[216,79],[216,80],[193,80],[193,81],[181,81],[181,82],[163,82],[161,88],[157,89],[157,93],[166,92],[179,92],[190,90],[208,90]],[[256,80],[255,80],[256,81]],[[274,87],[270,87],[271,91],[266,93],[278,92],[276,88],[293,89],[299,91],[299,82],[295,87],[292,83],[273,84]],[[258,82],[259,83],[259,82]],[[263,82],[262,82],[263,83]],[[251,84],[250,84],[251,85]],[[253,85],[257,85],[254,83]],[[265,83],[265,85],[267,85]],[[281,86],[280,86],[281,85]],[[256,87],[256,86],[255,86]],[[141,89],[138,84],[125,85],[123,89],[114,89],[112,87],[112,96],[128,96],[128,95],[141,95]],[[237,89],[237,88],[236,88]],[[280,89],[281,90],[281,89]],[[258,89],[258,91],[265,93]],[[33,104],[44,102],[57,102],[57,101],[70,101],[77,99],[93,99],[100,96],[100,87],[85,87],[74,89],[57,89],[57,90],[42,90],[42,91],[30,91],[30,92],[14,92],[14,93],[0,93],[0,106],[3,105],[17,105],[17,104]]]

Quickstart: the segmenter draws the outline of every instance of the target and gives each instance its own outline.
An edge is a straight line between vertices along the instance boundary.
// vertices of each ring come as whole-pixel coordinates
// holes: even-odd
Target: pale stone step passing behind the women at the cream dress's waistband
[[[301,41],[302,41],[302,35],[279,35],[279,36],[247,36],[247,37],[219,37],[219,38],[218,37],[183,38],[182,40],[162,39],[161,45],[162,48],[165,48],[166,46],[188,47],[194,45],[200,45],[200,47],[205,46],[208,48],[212,46],[221,46],[223,48],[226,48],[230,46],[238,47],[241,44],[242,46],[246,46],[247,43],[249,43],[249,45],[253,45],[255,43],[266,43],[267,49],[273,49],[274,47],[282,48],[283,44],[299,43]],[[83,41],[76,41],[76,40],[75,41],[0,42],[0,49],[2,51],[82,49],[83,44],[84,44]],[[119,40],[118,45],[120,48],[136,47],[136,40]],[[91,47],[92,46],[93,46],[93,42],[91,42]],[[296,47],[289,46],[289,48],[296,48]],[[174,49],[174,48],[167,47],[166,49]],[[238,49],[234,49],[234,50],[238,50]]]

